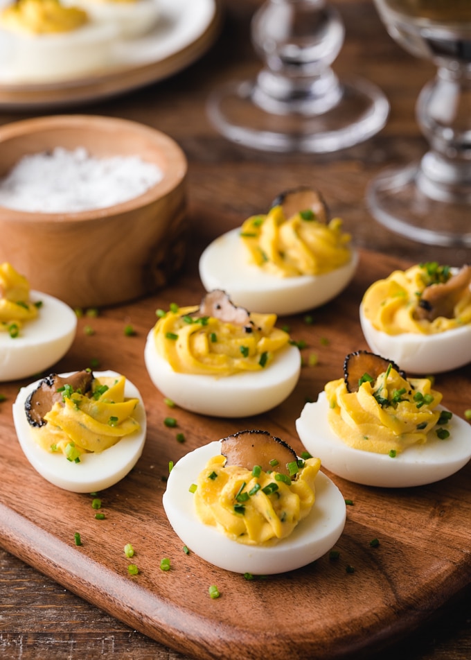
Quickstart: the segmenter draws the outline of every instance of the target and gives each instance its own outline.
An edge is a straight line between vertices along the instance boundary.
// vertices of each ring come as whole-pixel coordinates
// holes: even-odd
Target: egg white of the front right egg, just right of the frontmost
[[[409,446],[395,458],[346,445],[330,428],[327,415],[326,392],[321,392],[317,402],[305,404],[296,419],[296,431],[323,467],[355,483],[388,488],[434,483],[457,472],[471,458],[471,427],[457,415],[445,427],[450,431],[447,440],[439,440],[431,431],[425,444]]]

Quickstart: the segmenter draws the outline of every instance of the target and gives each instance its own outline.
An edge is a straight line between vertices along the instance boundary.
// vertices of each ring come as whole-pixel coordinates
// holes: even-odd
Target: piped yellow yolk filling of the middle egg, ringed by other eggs
[[[193,316],[198,307],[168,311],[154,327],[157,352],[175,372],[230,376],[260,371],[290,341],[275,328],[276,314],[250,314],[250,324],[240,326],[212,316]]]

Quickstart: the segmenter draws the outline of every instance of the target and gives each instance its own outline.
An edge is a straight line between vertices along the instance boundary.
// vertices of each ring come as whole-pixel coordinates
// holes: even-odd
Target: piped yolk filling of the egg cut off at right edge
[[[412,332],[434,334],[471,323],[471,291],[454,306],[452,318],[438,316],[433,321],[416,318],[420,295],[427,286],[424,268],[395,270],[366,290],[363,312],[375,329],[389,335]]]

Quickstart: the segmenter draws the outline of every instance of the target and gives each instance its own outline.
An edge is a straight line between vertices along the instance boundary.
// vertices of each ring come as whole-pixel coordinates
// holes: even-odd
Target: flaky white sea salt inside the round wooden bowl
[[[0,206],[35,213],[103,209],[141,195],[162,177],[139,156],[96,158],[82,147],[57,147],[17,162],[0,180]]]

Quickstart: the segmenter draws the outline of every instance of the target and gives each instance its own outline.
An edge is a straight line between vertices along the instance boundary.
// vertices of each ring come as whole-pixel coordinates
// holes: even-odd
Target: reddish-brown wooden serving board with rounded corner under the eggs
[[[194,257],[195,259],[195,257]],[[196,658],[327,660],[376,650],[397,641],[434,614],[471,582],[471,464],[441,483],[411,489],[362,487],[332,480],[353,505],[347,507],[337,560],[326,555],[298,571],[245,580],[186,555],[161,505],[168,462],[242,428],[263,428],[298,451],[295,420],[305,399],[315,399],[326,381],[341,376],[344,356],[366,348],[358,305],[368,284],[398,261],[362,252],[353,283],[335,301],[287,318],[295,340],[305,340],[306,361],[296,390],[275,410],[251,419],[215,419],[169,409],[143,362],[157,307],[197,304],[203,290],[196,263],[159,295],[82,318],[78,336],[57,372],[87,367],[122,372],[141,391],[148,412],[148,438],[132,473],[100,494],[104,520],[94,518],[91,496],[64,492],[43,480],[16,439],[11,404],[19,385],[0,384],[0,544],[66,589],[78,593],[161,643]],[[136,336],[125,336],[132,324]],[[85,325],[94,328],[88,335]],[[325,342],[328,340],[328,343]],[[469,367],[437,376],[445,406],[463,416],[470,408]],[[167,428],[163,419],[177,419]],[[186,441],[176,440],[184,433]],[[327,472],[328,474],[328,472]],[[80,532],[82,546],[75,546]],[[370,541],[377,538],[379,546]],[[130,576],[123,546],[132,543],[139,575]],[[171,569],[159,568],[169,557]],[[353,567],[353,572],[347,567]],[[211,600],[216,584],[220,598]],[[356,655],[355,657],[359,657]]]

